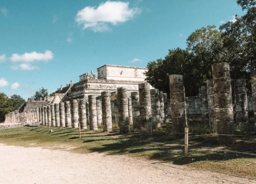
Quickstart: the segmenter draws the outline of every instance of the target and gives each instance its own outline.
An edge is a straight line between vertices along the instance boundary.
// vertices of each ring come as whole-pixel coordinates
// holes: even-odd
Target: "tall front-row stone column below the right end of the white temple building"
[[[140,122],[141,134],[152,134],[152,114],[151,114],[151,98],[150,98],[150,84],[142,83],[139,86],[140,96]]]

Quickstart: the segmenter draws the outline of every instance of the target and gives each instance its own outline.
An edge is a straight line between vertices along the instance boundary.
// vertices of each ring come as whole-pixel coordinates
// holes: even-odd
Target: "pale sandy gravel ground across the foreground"
[[[256,183],[126,155],[77,154],[0,144],[0,183]]]

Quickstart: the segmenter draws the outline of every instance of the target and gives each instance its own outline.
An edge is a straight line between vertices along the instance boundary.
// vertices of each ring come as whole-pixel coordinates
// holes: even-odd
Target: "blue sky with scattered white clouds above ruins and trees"
[[[236,14],[236,0],[1,0],[0,92],[27,100],[105,64],[145,67]]]

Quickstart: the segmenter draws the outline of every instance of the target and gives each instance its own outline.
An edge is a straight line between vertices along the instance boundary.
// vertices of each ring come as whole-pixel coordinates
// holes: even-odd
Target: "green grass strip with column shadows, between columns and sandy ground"
[[[34,127],[34,130],[31,127],[23,127],[23,131],[20,128],[0,130],[0,142],[82,154],[126,154],[250,179],[256,178],[256,156],[202,149],[207,147],[256,154],[255,137],[238,137],[235,144],[220,145],[216,134],[190,134],[189,157],[184,158],[184,139],[173,139],[171,124],[166,124],[161,131],[153,132],[151,137],[141,137],[139,130],[132,129],[130,134],[125,135],[121,135],[119,130],[81,130],[82,138],[79,138],[78,129],[51,129],[51,133],[48,132],[47,126]]]

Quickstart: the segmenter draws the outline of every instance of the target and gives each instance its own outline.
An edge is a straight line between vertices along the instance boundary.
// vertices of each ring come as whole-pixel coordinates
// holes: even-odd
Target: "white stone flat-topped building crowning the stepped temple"
[[[147,68],[104,65],[97,69],[98,79],[125,80],[125,81],[145,81]]]

